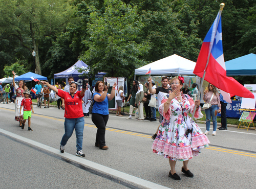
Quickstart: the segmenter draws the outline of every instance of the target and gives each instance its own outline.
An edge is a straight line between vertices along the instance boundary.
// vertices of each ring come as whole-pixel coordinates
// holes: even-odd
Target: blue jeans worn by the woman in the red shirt
[[[82,138],[83,138],[83,127],[84,127],[84,118],[78,117],[74,119],[65,118],[64,122],[65,134],[62,136],[60,145],[65,146],[67,141],[72,136],[73,131],[76,131],[76,150],[82,150]]]

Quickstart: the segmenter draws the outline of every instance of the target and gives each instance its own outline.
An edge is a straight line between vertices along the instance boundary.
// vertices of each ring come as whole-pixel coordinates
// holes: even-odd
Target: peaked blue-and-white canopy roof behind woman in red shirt
[[[60,72],[58,74],[54,74],[54,78],[68,78],[70,76],[72,77],[79,77],[82,76],[82,74],[84,73],[79,73],[78,70],[76,69],[77,67],[80,68],[87,68],[88,65],[86,63],[84,63],[81,60],[78,60],[74,65],[72,65],[70,68],[66,69],[63,72]],[[90,72],[90,70],[87,70],[86,73]],[[97,75],[95,75],[95,77],[103,77],[106,73],[100,72]]]

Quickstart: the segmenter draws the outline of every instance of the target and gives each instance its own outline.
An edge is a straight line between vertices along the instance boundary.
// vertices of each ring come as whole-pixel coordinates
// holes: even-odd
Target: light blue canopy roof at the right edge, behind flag
[[[255,76],[256,75],[256,55],[241,56],[225,62],[227,76]]]

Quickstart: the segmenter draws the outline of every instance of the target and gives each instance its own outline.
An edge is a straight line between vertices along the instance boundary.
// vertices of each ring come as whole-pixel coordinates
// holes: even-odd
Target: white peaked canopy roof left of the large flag
[[[195,75],[196,62],[178,55],[168,56],[135,69],[135,75],[145,75],[151,68],[151,75]]]

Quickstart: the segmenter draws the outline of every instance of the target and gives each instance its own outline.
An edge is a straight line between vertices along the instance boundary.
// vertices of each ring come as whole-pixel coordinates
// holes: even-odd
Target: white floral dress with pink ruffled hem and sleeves
[[[188,95],[182,94],[182,101],[173,99],[167,113],[164,113],[163,103],[167,101],[168,95],[164,96],[159,112],[164,119],[152,149],[154,153],[163,155],[172,160],[188,160],[200,153],[202,148],[208,147],[209,140],[193,121],[188,113],[193,113],[195,104]],[[182,111],[183,110],[183,111]],[[201,118],[201,108],[196,111],[196,118]],[[186,131],[189,132],[186,132]]]

